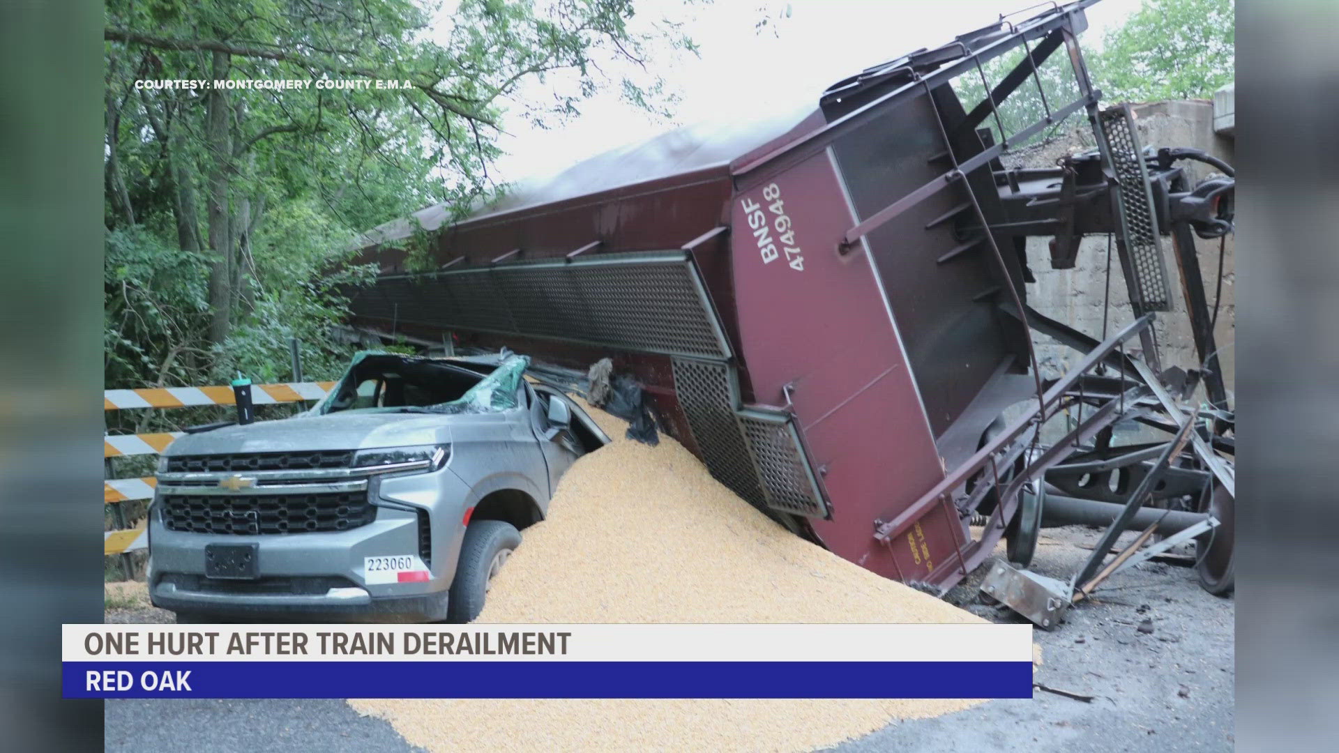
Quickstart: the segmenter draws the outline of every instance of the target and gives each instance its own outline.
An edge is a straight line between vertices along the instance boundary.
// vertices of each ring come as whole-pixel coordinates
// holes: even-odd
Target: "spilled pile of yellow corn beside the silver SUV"
[[[562,478],[482,623],[983,622],[782,529],[682,445],[623,438]],[[889,678],[889,682],[896,682]],[[893,690],[890,687],[890,690]],[[454,750],[813,750],[952,699],[352,699],[412,745]]]

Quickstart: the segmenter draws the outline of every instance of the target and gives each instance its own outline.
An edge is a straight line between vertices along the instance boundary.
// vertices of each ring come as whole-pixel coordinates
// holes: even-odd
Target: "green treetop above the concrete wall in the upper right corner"
[[[1206,99],[1233,79],[1235,39],[1232,0],[1144,0],[1089,64],[1111,102]]]

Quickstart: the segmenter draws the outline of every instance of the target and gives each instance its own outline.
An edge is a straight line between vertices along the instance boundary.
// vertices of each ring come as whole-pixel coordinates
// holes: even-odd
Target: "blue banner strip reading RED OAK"
[[[1031,662],[64,662],[66,698],[1031,698]]]

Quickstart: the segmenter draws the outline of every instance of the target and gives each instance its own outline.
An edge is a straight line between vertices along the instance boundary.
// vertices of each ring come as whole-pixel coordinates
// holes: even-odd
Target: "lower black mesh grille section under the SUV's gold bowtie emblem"
[[[312,533],[347,531],[376,519],[367,492],[319,494],[163,494],[169,531],[190,533]]]

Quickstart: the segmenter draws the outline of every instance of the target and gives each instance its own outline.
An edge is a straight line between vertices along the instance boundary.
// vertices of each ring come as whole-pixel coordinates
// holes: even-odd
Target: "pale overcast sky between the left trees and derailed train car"
[[[700,58],[680,56],[657,68],[682,96],[670,122],[601,94],[580,105],[582,114],[542,130],[524,118],[505,121],[497,165],[502,180],[557,173],[608,149],[639,142],[678,125],[757,119],[817,105],[832,83],[920,47],[937,47],[959,33],[1024,8],[1031,0],[715,0],[684,7],[678,0],[641,0],[639,17],[687,21]],[[785,16],[790,8],[789,17]],[[1079,42],[1097,50],[1106,28],[1119,25],[1139,0],[1103,0],[1089,8]],[[1023,20],[1034,8],[1012,16]],[[769,19],[761,32],[755,24]],[[1101,82],[1097,82],[1101,86]],[[530,88],[525,96],[545,96]]]

